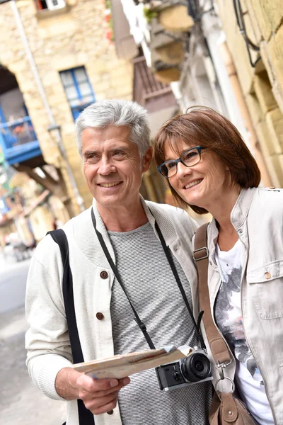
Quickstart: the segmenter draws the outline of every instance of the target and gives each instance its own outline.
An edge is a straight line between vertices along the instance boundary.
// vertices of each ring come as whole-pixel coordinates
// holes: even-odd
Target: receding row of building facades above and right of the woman
[[[282,0],[121,1],[134,5],[148,66],[166,74],[180,110],[203,104],[226,115],[254,154],[262,185],[283,187]]]

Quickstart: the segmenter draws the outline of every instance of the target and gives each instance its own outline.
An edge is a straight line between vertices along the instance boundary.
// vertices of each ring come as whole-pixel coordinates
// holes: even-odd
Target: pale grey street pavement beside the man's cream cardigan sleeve
[[[67,404],[43,395],[25,366],[23,304],[29,262],[0,256],[0,424],[61,425]]]

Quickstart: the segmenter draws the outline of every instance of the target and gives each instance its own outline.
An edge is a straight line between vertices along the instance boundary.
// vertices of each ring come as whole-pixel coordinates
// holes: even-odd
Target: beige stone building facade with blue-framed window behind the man
[[[114,45],[106,38],[108,22],[103,0],[18,0],[16,7],[42,90],[35,81],[23,34],[9,2],[0,5],[0,63],[16,77],[45,162],[62,171],[74,211],[79,212],[66,162],[56,140],[47,130],[50,127],[49,112],[60,127],[67,162],[87,208],[92,198],[83,179],[74,132],[74,118],[80,108],[72,108],[71,92],[76,91],[77,101],[77,93],[81,92],[81,108],[91,101],[90,96],[83,100],[83,91],[91,91],[92,101],[103,98],[130,100],[132,64],[119,60]],[[76,81],[71,80],[70,87],[68,79],[75,79],[76,72]],[[86,81],[80,86],[79,76],[82,74]]]

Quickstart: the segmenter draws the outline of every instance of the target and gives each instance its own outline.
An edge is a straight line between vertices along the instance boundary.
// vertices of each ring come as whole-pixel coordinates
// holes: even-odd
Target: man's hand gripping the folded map
[[[82,399],[93,414],[102,414],[116,407],[118,392],[129,382],[129,378],[94,380],[72,368],[63,368],[57,374],[55,386],[64,399]]]

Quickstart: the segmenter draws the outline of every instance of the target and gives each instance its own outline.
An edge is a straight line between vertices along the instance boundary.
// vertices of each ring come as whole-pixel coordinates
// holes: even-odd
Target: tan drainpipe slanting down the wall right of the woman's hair
[[[270,175],[267,171],[267,167],[265,165],[265,161],[263,159],[262,152],[260,150],[258,137],[253,128],[253,121],[250,118],[250,113],[248,111],[248,107],[246,106],[241,84],[238,80],[236,68],[235,68],[235,65],[233,64],[233,59],[226,45],[226,42],[222,42],[219,45],[219,53],[225,64],[226,71],[227,71],[229,80],[231,82],[231,86],[233,88],[233,93],[236,97],[238,107],[243,117],[243,121],[246,125],[246,128],[248,129],[248,132],[250,133],[250,147],[252,148],[253,154],[255,155],[255,160],[258,163],[258,168],[260,169],[262,183],[264,186],[272,186]]]

